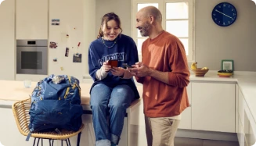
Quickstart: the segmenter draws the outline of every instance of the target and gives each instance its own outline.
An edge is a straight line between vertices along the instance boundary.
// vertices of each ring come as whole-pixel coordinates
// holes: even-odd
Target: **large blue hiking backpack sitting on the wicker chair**
[[[39,81],[31,94],[31,133],[79,130],[83,113],[80,90],[79,80],[67,75]]]

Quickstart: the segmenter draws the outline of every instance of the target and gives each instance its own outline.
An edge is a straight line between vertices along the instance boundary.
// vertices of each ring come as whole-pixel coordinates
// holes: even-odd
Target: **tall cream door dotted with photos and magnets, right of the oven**
[[[49,1],[49,42],[55,41],[58,47],[49,48],[48,74],[67,74],[82,79],[86,58],[85,40],[83,40],[84,9],[81,0]],[[59,26],[52,25],[52,19],[59,19]],[[79,42],[81,44],[78,48]],[[67,57],[66,48],[69,48]],[[73,55],[76,53],[81,54],[81,62],[73,62]],[[55,58],[57,62],[53,61]]]

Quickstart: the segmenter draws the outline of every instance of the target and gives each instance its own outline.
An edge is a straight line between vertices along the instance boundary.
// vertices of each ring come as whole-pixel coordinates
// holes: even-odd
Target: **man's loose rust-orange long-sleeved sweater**
[[[142,44],[142,63],[152,69],[168,72],[165,84],[153,77],[136,77],[143,84],[144,113],[148,117],[178,116],[189,106],[186,86],[189,67],[186,52],[177,37],[163,31]]]

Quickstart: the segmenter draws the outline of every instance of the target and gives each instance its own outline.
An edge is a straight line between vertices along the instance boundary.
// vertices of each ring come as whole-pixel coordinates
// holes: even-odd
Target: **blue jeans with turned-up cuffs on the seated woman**
[[[134,92],[128,85],[117,85],[112,88],[105,84],[96,84],[92,87],[90,105],[96,146],[118,144],[126,109],[134,99]]]

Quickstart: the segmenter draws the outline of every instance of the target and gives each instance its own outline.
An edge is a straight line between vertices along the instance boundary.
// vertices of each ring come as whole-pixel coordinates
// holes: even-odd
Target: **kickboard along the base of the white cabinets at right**
[[[201,130],[178,130],[175,137],[199,138],[218,141],[238,141],[236,133],[210,132]]]

